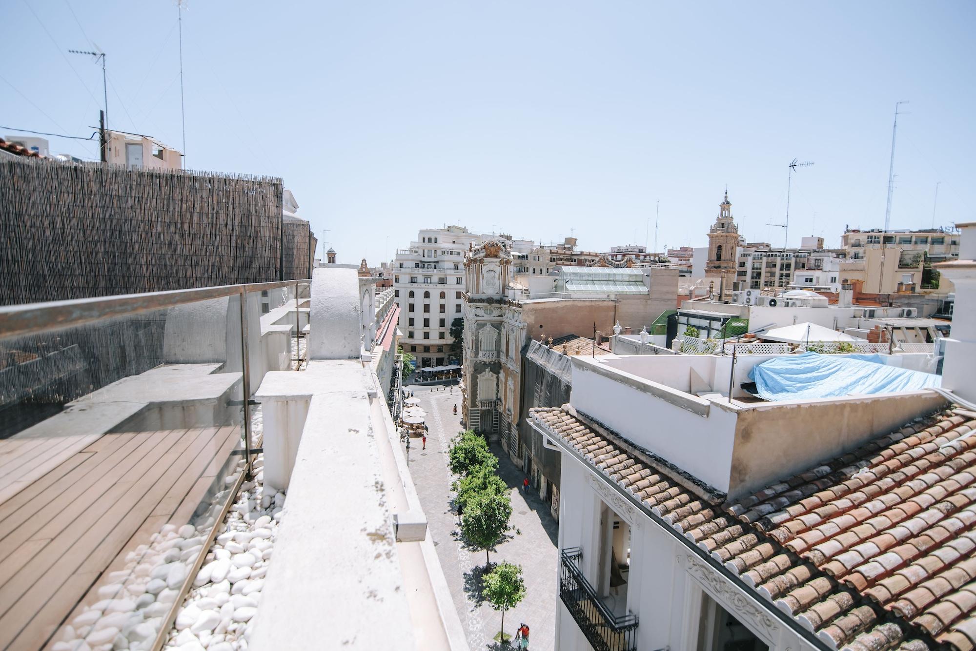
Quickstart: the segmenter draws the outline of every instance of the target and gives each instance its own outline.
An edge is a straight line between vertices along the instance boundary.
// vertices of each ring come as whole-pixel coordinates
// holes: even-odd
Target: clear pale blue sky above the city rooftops
[[[66,50],[91,39],[110,126],[179,148],[177,13],[7,0],[0,125],[90,134],[101,68]],[[961,0],[190,0],[186,162],[281,176],[341,262],[376,263],[445,223],[653,245],[659,200],[659,249],[702,246],[726,184],[740,232],[782,244],[798,157],[790,244],[835,246],[883,225],[899,99],[892,227],[929,227],[940,180],[937,224],[976,216],[974,30]]]

